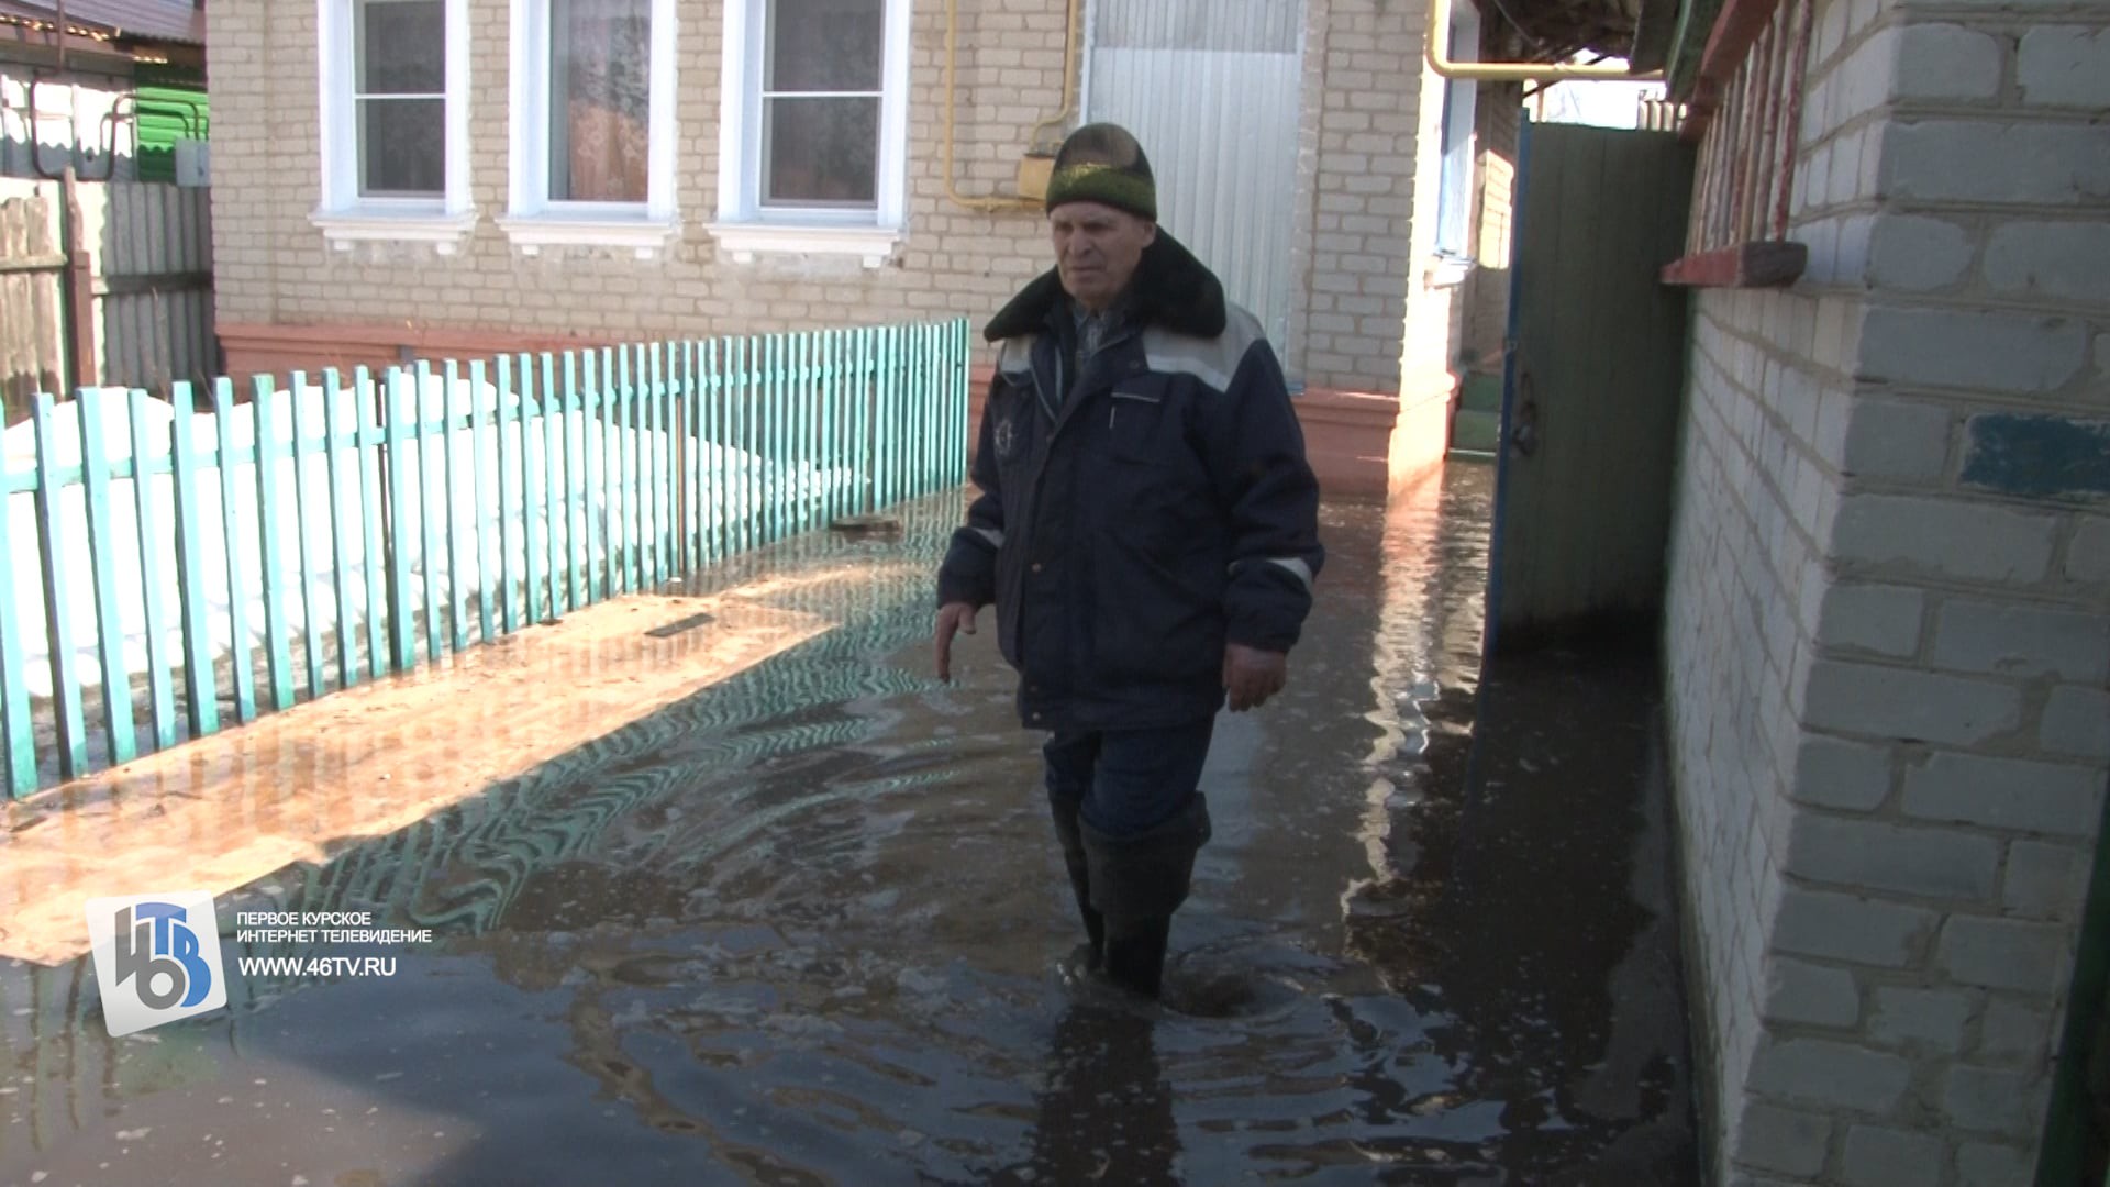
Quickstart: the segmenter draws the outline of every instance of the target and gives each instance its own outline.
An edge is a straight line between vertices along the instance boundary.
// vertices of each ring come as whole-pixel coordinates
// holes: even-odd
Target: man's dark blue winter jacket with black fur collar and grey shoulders
[[[1000,342],[966,526],[939,604],[996,604],[1034,729],[1190,722],[1224,703],[1224,644],[1289,651],[1323,562],[1319,484],[1274,351],[1165,230],[1078,374],[1051,270]]]

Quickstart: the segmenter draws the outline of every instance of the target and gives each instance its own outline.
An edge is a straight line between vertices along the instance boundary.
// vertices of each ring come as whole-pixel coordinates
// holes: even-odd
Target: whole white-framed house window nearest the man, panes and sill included
[[[717,224],[736,260],[899,241],[907,0],[728,0]]]

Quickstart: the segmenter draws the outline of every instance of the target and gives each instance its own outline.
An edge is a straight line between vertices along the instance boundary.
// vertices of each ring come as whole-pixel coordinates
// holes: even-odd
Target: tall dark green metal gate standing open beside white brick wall
[[[1663,606],[1686,372],[1692,150],[1675,133],[1526,120],[1488,651]]]

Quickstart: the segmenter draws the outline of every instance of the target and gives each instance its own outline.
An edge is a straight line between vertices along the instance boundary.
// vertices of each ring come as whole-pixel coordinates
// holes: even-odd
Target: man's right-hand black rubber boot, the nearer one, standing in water
[[[1209,805],[1194,792],[1171,819],[1127,836],[1099,832],[1085,819],[1076,826],[1085,843],[1085,885],[1106,917],[1106,974],[1156,997],[1173,912],[1192,885],[1194,853],[1209,843]]]

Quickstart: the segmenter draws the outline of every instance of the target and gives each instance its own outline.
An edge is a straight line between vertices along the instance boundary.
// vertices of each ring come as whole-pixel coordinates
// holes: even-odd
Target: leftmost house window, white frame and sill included
[[[449,251],[468,205],[466,0],[319,0],[323,201],[338,247]]]

